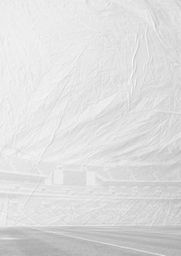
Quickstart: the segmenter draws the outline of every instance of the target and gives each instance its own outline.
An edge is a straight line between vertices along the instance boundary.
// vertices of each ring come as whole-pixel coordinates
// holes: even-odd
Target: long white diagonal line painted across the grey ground
[[[91,240],[91,239],[87,239],[87,238],[80,238],[80,237],[76,237],[76,236],[69,235],[69,234],[57,233],[57,232],[54,232],[54,231],[46,231],[44,229],[39,229],[39,228],[31,228],[31,229],[35,229],[35,230],[38,230],[38,231],[43,231],[44,233],[58,234],[58,235],[61,235],[61,236],[67,237],[67,238],[76,238],[76,239],[81,239],[81,240],[84,240],[84,241],[91,241],[91,242],[94,242],[94,243],[97,243],[97,244],[106,244],[106,245],[109,245],[109,246],[122,248],[122,249],[129,250],[129,251],[139,251],[139,252],[143,252],[144,254],[150,254],[150,255],[156,255],[156,256],[166,256],[165,254],[157,254],[155,252],[143,251],[143,250],[140,250],[140,249],[137,249],[137,248],[131,248],[131,247],[121,246],[121,245],[117,245],[117,244],[109,244],[109,243],[106,243],[106,242],[103,242],[103,241],[96,241],[96,240]]]

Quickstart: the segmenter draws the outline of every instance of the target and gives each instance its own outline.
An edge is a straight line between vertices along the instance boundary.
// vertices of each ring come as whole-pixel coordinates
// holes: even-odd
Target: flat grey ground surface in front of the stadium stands
[[[181,255],[181,228],[1,228],[1,256]]]

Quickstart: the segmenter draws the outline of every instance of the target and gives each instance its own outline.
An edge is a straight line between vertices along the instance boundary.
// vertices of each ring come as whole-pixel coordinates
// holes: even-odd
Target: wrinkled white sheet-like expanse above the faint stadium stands
[[[179,0],[0,2],[1,158],[179,170]]]

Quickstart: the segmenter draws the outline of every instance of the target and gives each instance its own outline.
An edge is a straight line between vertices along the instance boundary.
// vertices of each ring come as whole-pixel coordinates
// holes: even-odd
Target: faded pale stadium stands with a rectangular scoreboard
[[[20,165],[21,163],[21,165]],[[21,167],[21,168],[20,168]],[[2,226],[180,225],[176,171],[1,163]]]

